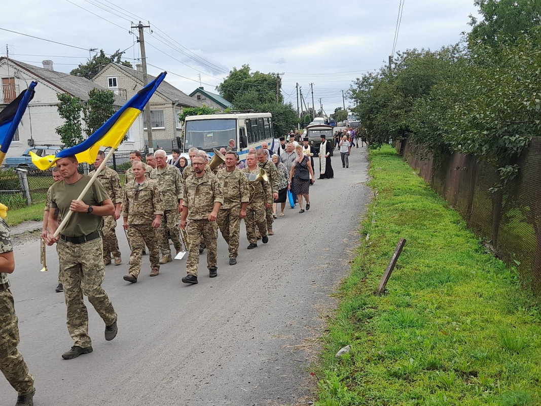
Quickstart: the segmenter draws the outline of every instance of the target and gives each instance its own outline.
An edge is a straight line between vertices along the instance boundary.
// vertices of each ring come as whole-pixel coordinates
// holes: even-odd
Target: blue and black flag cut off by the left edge
[[[23,91],[17,99],[12,101],[0,112],[0,164],[4,160],[6,152],[11,145],[17,127],[23,118],[28,103],[34,97],[34,88],[37,82],[30,83],[27,90]]]

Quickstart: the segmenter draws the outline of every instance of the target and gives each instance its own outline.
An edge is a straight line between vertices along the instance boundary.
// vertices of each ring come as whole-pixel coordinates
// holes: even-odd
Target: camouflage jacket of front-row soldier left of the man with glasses
[[[150,224],[156,214],[163,214],[163,202],[156,182],[146,179],[142,185],[135,180],[124,185],[122,217],[128,224]]]

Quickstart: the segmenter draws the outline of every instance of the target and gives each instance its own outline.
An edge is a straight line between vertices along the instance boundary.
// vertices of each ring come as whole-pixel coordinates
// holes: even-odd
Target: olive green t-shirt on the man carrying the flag
[[[83,175],[81,179],[72,185],[68,185],[64,180],[61,180],[51,186],[51,207],[58,207],[60,210],[59,218],[65,218],[69,212],[71,200],[76,200],[79,197],[90,179],[90,176]],[[101,182],[94,182],[85,193],[83,202],[87,205],[100,206],[100,203],[107,199],[109,199],[109,195],[105,192]],[[74,212],[61,234],[67,237],[81,237],[101,230],[102,224],[103,218],[99,215]]]

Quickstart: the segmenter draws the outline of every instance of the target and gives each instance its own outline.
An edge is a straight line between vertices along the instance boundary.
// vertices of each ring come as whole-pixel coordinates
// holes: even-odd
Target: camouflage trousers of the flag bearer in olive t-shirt
[[[68,307],[68,331],[74,345],[83,348],[92,344],[88,335],[88,311],[83,295],[88,297],[105,325],[113,324],[117,318],[113,304],[101,286],[105,277],[102,246],[101,238],[83,244],[68,243],[62,239],[56,243],[60,280]]]

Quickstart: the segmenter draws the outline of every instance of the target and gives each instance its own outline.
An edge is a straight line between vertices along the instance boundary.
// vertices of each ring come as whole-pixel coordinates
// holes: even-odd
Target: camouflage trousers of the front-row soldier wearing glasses
[[[186,273],[197,276],[197,266],[199,266],[199,244],[203,241],[207,246],[207,267],[217,268],[217,246],[218,230],[216,221],[208,220],[189,220],[186,233],[190,249],[188,259],[186,260]]]

